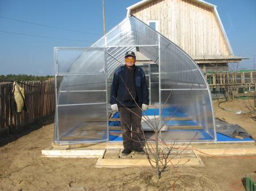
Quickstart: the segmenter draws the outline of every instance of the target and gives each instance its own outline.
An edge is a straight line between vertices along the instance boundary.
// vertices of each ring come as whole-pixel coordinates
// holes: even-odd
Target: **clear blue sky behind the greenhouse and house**
[[[106,32],[137,2],[105,0]],[[250,58],[240,69],[256,70],[256,0],[207,2],[217,6],[234,55]],[[54,47],[89,47],[103,33],[102,0],[0,0],[0,75],[53,75]]]

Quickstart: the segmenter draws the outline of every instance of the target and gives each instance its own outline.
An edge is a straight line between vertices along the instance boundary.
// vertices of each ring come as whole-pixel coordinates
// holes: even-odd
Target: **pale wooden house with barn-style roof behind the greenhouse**
[[[127,7],[151,28],[185,50],[204,71],[228,71],[238,63],[215,5],[202,0],[143,0]]]

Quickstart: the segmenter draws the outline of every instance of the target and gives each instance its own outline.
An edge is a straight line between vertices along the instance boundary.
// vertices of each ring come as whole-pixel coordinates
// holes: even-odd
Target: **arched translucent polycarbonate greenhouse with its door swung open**
[[[161,129],[164,142],[216,141],[212,99],[200,68],[177,45],[130,16],[90,48],[55,48],[54,143],[122,141],[109,95],[114,71],[129,50],[143,57],[135,65],[144,70],[150,92],[142,117],[144,138],[154,141],[150,121]]]

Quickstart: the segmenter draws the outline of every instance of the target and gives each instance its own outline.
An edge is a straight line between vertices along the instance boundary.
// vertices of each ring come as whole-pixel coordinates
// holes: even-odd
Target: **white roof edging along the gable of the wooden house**
[[[142,1],[139,1],[138,3],[135,3],[134,5],[131,5],[130,7],[127,7],[126,8],[127,9],[127,15],[126,16],[129,17],[131,10],[137,9],[138,7],[143,6],[146,3],[149,3],[151,1],[155,1],[155,0],[142,0]],[[200,5],[203,5],[203,6],[206,6],[206,7],[209,7],[209,8],[213,9],[213,13],[214,13],[214,15],[217,18],[218,24],[220,24],[221,31],[222,31],[222,33],[223,33],[223,35],[225,37],[226,43],[228,44],[230,53],[231,53],[231,55],[234,55],[232,47],[231,47],[231,45],[229,43],[228,36],[226,35],[226,31],[225,31],[224,26],[223,26],[223,24],[221,22],[220,16],[218,15],[217,6],[213,5],[211,3],[208,3],[206,1],[203,1],[203,0],[191,0],[191,1],[195,1],[196,3],[199,3]]]

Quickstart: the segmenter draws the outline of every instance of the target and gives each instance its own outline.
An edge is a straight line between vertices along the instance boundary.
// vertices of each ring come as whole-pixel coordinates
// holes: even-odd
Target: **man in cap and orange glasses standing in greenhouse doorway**
[[[134,52],[125,54],[125,66],[118,67],[112,82],[110,104],[119,111],[123,137],[122,155],[132,151],[143,154],[141,143],[141,116],[148,107],[148,88],[144,71],[135,66]]]

